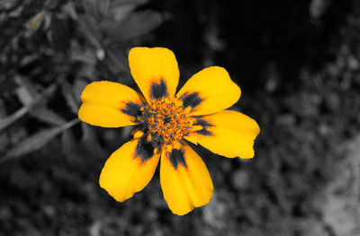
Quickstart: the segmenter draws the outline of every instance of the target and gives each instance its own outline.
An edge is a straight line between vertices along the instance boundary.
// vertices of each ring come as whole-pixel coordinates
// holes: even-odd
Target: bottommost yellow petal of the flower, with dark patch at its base
[[[212,197],[212,181],[202,158],[187,144],[161,154],[160,182],[164,198],[174,214],[184,215],[206,205]]]

